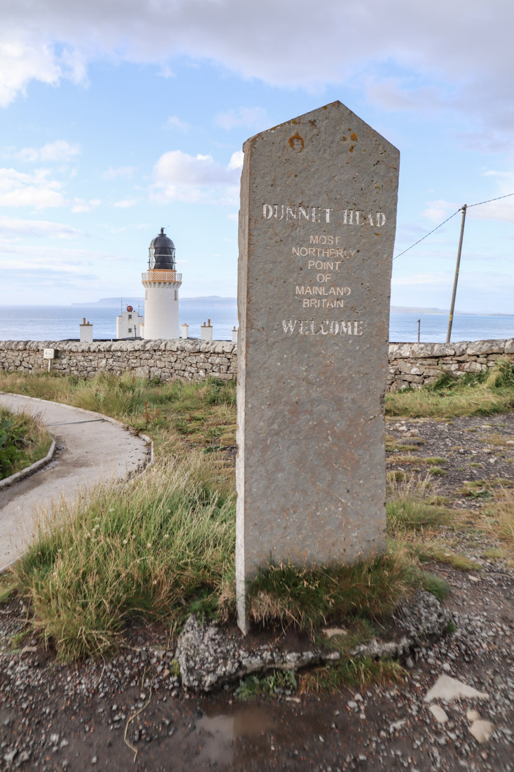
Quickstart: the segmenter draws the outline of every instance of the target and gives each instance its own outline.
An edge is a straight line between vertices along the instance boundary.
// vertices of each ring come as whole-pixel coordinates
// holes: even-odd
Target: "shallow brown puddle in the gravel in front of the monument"
[[[216,713],[208,709],[196,722],[201,746],[198,761],[220,766],[232,764],[234,740],[260,736],[276,726],[269,710],[261,706],[236,706],[231,713]]]

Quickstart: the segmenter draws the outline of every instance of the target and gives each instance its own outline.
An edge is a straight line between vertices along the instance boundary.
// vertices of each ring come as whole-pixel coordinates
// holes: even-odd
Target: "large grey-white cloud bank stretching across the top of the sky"
[[[508,0],[468,0],[464,11],[462,3],[448,0],[395,0],[387,6],[383,0],[325,0],[319,8],[297,0],[294,12],[276,0],[261,0],[258,9],[241,0],[4,5],[3,105],[31,80],[84,83],[88,64],[102,58],[154,63],[169,76],[174,60],[187,57],[246,79],[311,91],[330,84],[361,88],[375,67],[387,66],[402,75],[368,81],[364,87],[374,103],[423,111],[427,103],[451,104],[479,117],[471,142],[485,122],[494,127],[495,143],[514,128],[514,104],[506,98],[514,69],[514,6]],[[418,82],[410,80],[413,74]],[[220,119],[226,127],[259,122],[252,110],[230,110]]]

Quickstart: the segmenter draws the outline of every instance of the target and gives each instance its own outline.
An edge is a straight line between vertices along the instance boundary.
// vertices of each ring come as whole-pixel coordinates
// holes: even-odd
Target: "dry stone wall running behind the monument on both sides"
[[[237,344],[226,340],[119,340],[81,344],[66,340],[0,340],[0,369],[41,372],[48,369],[43,349],[53,348],[52,370],[92,378],[99,372],[133,372],[143,378],[203,381],[208,375],[230,381],[237,374]],[[419,388],[441,371],[455,377],[485,371],[499,358],[514,363],[514,338],[459,343],[391,343],[387,388]]]

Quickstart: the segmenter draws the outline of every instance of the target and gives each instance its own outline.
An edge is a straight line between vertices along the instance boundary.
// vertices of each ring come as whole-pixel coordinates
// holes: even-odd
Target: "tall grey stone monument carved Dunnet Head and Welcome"
[[[340,102],[245,142],[238,624],[259,566],[386,549],[384,391],[399,153]]]

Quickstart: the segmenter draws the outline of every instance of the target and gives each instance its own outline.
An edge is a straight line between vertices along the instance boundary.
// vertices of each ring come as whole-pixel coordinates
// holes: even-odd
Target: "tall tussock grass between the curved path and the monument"
[[[178,624],[214,613],[233,574],[234,498],[203,482],[205,456],[157,464],[60,503],[14,567],[34,628],[63,659],[103,655],[134,615]]]

